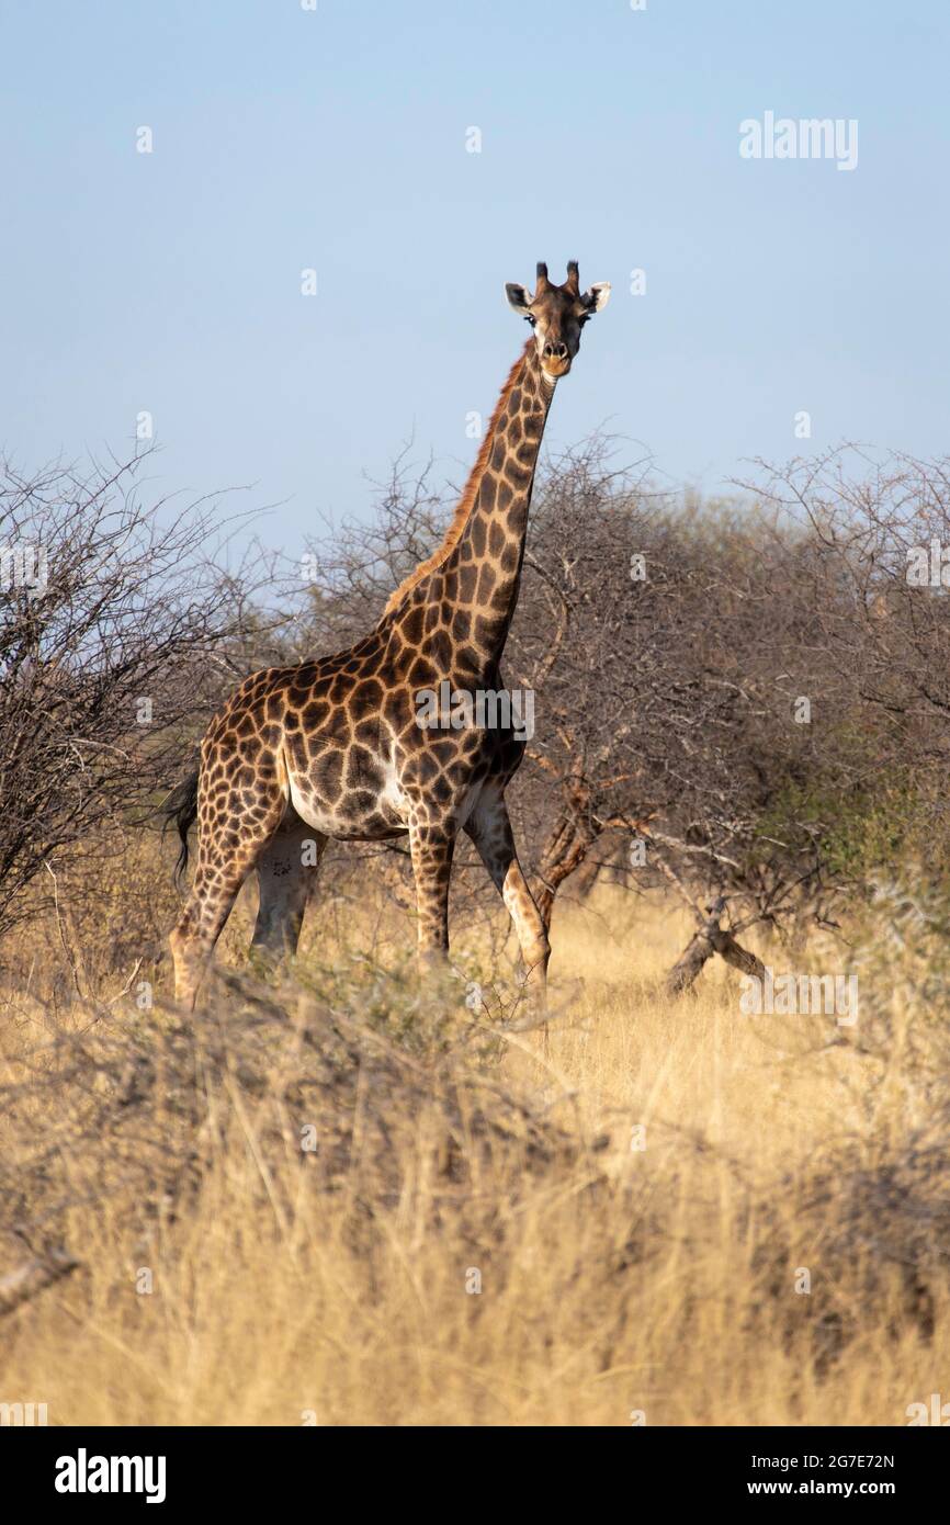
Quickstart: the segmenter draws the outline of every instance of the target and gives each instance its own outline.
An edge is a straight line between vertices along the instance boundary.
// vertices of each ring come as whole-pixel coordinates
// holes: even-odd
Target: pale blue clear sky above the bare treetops
[[[945,450],[938,0],[0,15],[0,445],[20,464],[120,453],[148,410],[157,486],[253,483],[293,551],[320,514],[367,514],[366,473],[410,435],[462,480],[467,415],[526,337],[503,282],[567,258],[613,299],[550,445],[607,424],[711,493],[743,458],[843,438]],[[769,110],[857,119],[857,168],[741,159],[740,122]]]

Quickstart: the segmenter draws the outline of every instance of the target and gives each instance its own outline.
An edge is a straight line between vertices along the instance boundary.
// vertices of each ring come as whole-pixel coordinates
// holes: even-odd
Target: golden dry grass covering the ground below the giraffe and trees
[[[555,926],[544,1060],[457,987],[352,956],[372,932],[398,967],[403,927],[364,909],[328,942],[311,918],[297,982],[232,978],[194,1023],[9,997],[3,1222],[81,1264],[5,1319],[2,1400],[64,1424],[901,1424],[945,1389],[938,1028],[746,1017],[724,967],[671,1005],[682,918],[602,892]]]

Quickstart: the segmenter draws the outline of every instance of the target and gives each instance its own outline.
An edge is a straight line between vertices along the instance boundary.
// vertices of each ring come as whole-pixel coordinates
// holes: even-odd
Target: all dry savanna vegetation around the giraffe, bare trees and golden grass
[[[398,843],[331,849],[293,967],[249,958],[249,886],[171,1000],[156,807],[246,673],[380,616],[432,471],[235,563],[233,509],[152,503],[142,462],[8,468],[0,1400],[901,1424],[945,1389],[947,467],[836,451],[701,502],[622,461],[546,464],[505,662],[547,1048],[474,854],[419,985]],[[857,1020],[752,1014],[765,967],[854,978]]]

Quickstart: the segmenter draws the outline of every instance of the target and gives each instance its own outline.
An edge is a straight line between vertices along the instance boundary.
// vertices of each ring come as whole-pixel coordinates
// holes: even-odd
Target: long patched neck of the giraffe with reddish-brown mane
[[[445,613],[448,604],[456,644],[474,648],[486,669],[502,656],[518,599],[528,509],[552,396],[554,384],[544,380],[529,340],[502,390],[465,490],[468,512],[432,578],[430,607],[441,602]]]

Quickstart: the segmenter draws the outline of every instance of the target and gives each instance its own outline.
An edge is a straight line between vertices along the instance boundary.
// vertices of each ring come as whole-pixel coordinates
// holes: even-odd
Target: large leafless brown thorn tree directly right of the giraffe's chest
[[[880,505],[880,485],[851,499]],[[884,544],[895,555],[892,518],[892,505],[866,512],[857,546],[854,514],[836,540],[826,512],[796,518],[775,496],[657,500],[605,471],[596,445],[546,476],[531,552],[541,583],[526,580],[512,647],[549,723],[532,753],[558,798],[535,877],[547,913],[619,830],[637,839],[640,883],[659,875],[695,920],[671,991],[714,953],[759,970],[738,942],[755,924],[834,924],[845,886],[830,843],[892,756],[880,732],[894,688],[874,657],[889,639],[874,567]],[[916,518],[907,534],[920,538]],[[920,616],[906,622],[920,640]]]

